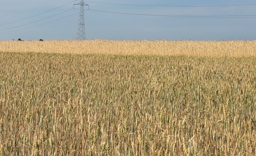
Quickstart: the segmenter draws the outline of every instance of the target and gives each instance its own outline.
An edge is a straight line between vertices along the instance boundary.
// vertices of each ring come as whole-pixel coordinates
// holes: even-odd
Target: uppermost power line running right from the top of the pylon
[[[91,2],[89,3],[106,4],[106,5],[126,5],[126,6],[141,6],[141,7],[228,7],[228,6],[250,6],[256,4],[238,4],[238,5],[133,5],[133,4],[118,4],[118,3],[105,3],[105,2]]]

